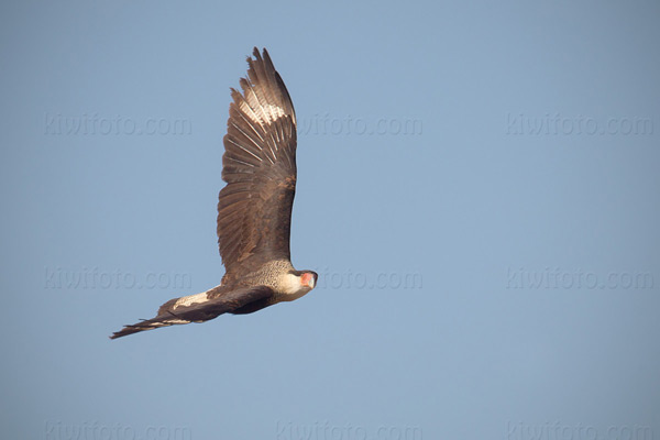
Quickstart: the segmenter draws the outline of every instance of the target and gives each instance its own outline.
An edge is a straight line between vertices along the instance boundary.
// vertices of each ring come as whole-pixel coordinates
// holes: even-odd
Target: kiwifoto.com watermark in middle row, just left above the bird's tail
[[[45,267],[44,288],[47,289],[186,289],[193,287],[189,273],[135,273],[99,267]]]

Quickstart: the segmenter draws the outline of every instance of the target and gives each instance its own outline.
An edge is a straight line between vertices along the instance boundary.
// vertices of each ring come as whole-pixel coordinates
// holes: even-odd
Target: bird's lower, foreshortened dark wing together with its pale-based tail
[[[266,286],[245,287],[230,292],[223,292],[223,287],[218,286],[204,294],[167,301],[158,309],[157,317],[128,324],[120,331],[112,333],[110,339],[161,327],[208,321],[222,314],[240,310],[244,306],[254,302],[260,304],[260,300],[273,295],[273,290]],[[204,298],[200,296],[204,296]]]

